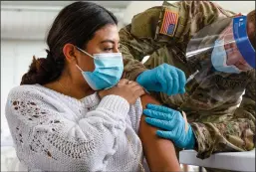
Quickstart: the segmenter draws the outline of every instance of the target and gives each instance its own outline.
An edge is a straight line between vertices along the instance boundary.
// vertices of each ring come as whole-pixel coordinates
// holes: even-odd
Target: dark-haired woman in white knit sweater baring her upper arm
[[[142,146],[151,171],[180,170],[172,143],[140,120],[143,88],[120,80],[117,24],[91,2],[65,7],[49,31],[47,58],[34,57],[21,86],[10,91],[6,117],[29,170],[139,171]],[[158,103],[142,98],[143,106]]]

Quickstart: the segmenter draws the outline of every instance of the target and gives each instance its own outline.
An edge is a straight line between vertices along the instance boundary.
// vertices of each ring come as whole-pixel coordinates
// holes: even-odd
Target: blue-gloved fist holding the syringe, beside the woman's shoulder
[[[186,78],[184,73],[167,64],[141,73],[136,83],[146,90],[162,91],[168,95],[185,92]]]

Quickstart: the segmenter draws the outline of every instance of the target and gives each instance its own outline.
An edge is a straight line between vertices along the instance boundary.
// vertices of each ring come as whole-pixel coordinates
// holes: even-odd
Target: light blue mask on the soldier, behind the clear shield
[[[241,71],[235,66],[227,65],[227,53],[224,48],[224,40],[216,40],[211,54],[211,63],[215,70],[223,73],[239,74]]]

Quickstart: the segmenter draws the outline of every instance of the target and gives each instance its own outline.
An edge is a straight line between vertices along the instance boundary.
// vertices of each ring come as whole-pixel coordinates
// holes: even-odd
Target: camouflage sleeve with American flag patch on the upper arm
[[[161,29],[167,22],[164,16],[170,13],[175,14],[176,20],[171,31],[164,32]],[[135,15],[131,23],[120,31],[125,77],[135,80],[146,70],[140,63],[144,56],[150,56],[165,46],[171,47],[176,42],[186,46],[192,35],[205,25],[232,15],[234,13],[209,1],[180,1],[172,4],[164,1],[162,6]]]

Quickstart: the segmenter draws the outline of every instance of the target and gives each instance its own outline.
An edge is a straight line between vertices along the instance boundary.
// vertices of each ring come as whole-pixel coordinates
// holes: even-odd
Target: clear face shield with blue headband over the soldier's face
[[[246,16],[239,16],[203,28],[187,46],[187,61],[208,61],[208,68],[231,74],[255,69],[255,50],[247,36],[246,22]],[[205,62],[199,63],[205,66]]]

